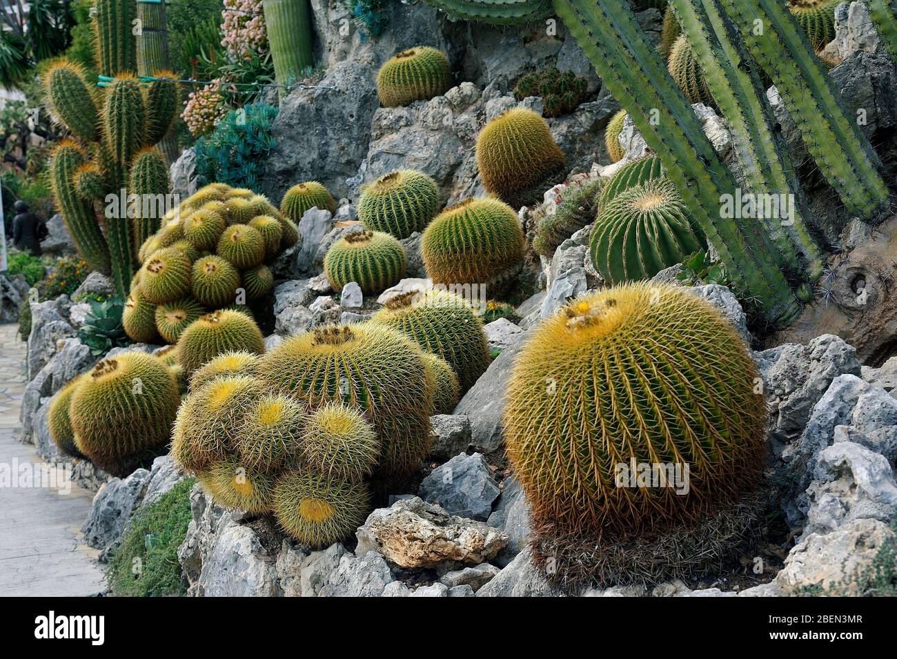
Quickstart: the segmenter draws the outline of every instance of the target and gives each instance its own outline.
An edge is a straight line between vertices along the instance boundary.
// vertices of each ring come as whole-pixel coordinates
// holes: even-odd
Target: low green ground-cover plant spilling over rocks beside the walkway
[[[107,579],[118,597],[163,597],[187,593],[178,548],[192,519],[188,478],[137,510],[127,523],[121,545],[112,552]],[[139,563],[138,563],[139,561]],[[135,570],[139,564],[140,570]]]

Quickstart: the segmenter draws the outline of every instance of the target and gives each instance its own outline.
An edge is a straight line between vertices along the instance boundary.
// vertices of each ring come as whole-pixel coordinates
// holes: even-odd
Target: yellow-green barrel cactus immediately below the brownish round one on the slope
[[[433,282],[495,288],[520,264],[523,246],[517,213],[498,199],[468,199],[447,208],[421,239],[423,264]]]

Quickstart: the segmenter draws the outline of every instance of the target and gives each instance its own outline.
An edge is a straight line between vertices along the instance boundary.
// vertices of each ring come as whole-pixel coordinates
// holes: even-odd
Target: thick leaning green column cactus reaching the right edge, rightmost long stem
[[[842,108],[795,17],[779,0],[719,3],[775,84],[807,151],[848,212],[872,221],[884,219],[890,195],[879,174],[881,163],[856,120]],[[757,21],[762,24],[759,35],[761,30],[753,27]]]

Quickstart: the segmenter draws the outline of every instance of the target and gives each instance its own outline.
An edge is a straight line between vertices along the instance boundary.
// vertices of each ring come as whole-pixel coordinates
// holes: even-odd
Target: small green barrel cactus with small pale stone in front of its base
[[[366,294],[379,293],[405,276],[405,249],[388,233],[356,231],[327,250],[324,272],[337,291],[356,282]]]

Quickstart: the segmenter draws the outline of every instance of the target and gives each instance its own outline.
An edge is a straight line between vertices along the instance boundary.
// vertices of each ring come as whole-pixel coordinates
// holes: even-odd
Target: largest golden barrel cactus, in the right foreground
[[[681,288],[570,302],[536,327],[508,384],[506,446],[536,524],[637,534],[737,499],[763,464],[756,375],[727,320]],[[631,487],[645,464],[687,467],[688,492]]]

